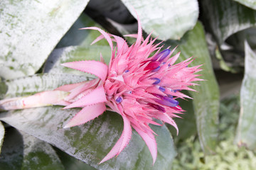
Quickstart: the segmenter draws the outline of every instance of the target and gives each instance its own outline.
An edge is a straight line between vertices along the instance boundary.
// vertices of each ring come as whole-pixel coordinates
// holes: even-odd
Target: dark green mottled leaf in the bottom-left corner
[[[54,149],[46,142],[7,130],[0,157],[0,169],[61,169],[64,167]]]

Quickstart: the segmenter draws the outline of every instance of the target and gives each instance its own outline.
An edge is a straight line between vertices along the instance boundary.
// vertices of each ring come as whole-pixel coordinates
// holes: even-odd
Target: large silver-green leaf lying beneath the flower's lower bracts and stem
[[[133,132],[129,145],[117,158],[99,165],[122,133],[121,116],[107,112],[84,125],[64,129],[63,125],[68,123],[79,109],[61,108],[54,106],[9,111],[1,113],[0,120],[55,145],[96,169],[171,169],[176,152],[166,126],[151,126],[159,135],[156,136],[158,157],[154,166],[149,149],[137,132]]]

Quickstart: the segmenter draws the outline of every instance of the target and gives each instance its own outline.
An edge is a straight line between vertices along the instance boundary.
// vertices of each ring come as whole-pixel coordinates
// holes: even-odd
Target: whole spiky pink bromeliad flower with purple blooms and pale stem
[[[157,147],[154,132],[149,124],[161,125],[154,119],[161,120],[173,125],[178,134],[178,127],[173,118],[179,118],[176,114],[182,113],[183,110],[178,106],[177,98],[189,98],[182,94],[181,90],[193,91],[188,86],[196,85],[192,81],[201,81],[196,78],[199,75],[195,74],[201,69],[199,69],[200,66],[188,67],[188,64],[193,61],[192,58],[175,64],[180,53],[170,58],[175,49],[161,51],[159,44],[154,45],[156,39],[150,40],[150,35],[144,40],[139,20],[138,25],[138,34],[128,35],[137,38],[131,46],[128,46],[124,39],[105,33],[100,28],[82,28],[98,30],[102,33],[92,43],[105,38],[110,44],[112,56],[109,66],[104,63],[102,57],[100,62],[64,63],[65,67],[95,74],[97,79],[60,86],[54,91],[45,91],[22,98],[20,103],[23,105],[19,108],[33,107],[35,102],[63,105],[65,108],[82,108],[65,125],[65,128],[87,123],[106,110],[117,112],[123,118],[124,130],[117,143],[100,163],[122,152],[129,143],[132,128],[134,128],[149,147],[154,164]],[[117,43],[116,48],[113,47],[113,42]],[[53,97],[52,101],[46,101],[42,97],[51,94],[56,99]],[[2,107],[4,108],[4,105]]]

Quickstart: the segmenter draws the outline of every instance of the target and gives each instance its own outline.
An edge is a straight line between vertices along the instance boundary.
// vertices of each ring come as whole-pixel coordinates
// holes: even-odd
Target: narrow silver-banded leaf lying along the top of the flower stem
[[[88,79],[90,78],[72,74],[36,74],[30,77],[21,77],[5,81],[8,90],[4,98],[31,95],[40,91],[53,90],[64,84],[75,84]]]

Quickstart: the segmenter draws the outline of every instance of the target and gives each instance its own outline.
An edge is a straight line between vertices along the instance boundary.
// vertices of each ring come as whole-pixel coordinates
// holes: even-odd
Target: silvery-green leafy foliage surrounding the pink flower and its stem
[[[137,32],[171,48],[180,60],[203,64],[198,92],[180,101],[179,135],[164,125],[158,158],[141,137],[117,158],[98,164],[117,142],[122,119],[107,112],[78,127],[63,125],[78,109],[58,106],[0,113],[0,169],[254,169],[256,166],[256,3],[253,0],[4,0],[0,1],[0,98],[28,96],[92,75],[60,66],[77,60],[110,60],[97,26],[123,36]],[[135,18],[134,18],[135,17]],[[132,39],[127,39],[132,44]]]

